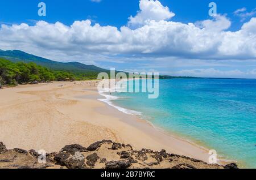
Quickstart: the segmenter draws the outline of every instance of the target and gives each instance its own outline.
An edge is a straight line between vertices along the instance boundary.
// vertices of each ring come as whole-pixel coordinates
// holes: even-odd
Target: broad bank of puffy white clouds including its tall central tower
[[[75,21],[70,26],[44,21],[35,25],[3,24],[0,49],[20,49],[55,60],[64,57],[74,61],[96,54],[110,58],[119,54],[137,58],[256,58],[256,18],[243,24],[239,31],[231,32],[227,31],[231,23],[225,15],[184,24],[168,21],[174,14],[159,1],[141,0],[140,8],[141,11],[129,21],[130,24],[141,24],[135,29],[129,25],[120,29],[92,25],[90,20]]]

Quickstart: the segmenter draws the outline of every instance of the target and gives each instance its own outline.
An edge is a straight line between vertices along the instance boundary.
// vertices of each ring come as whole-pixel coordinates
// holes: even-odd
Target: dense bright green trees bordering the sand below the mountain
[[[0,84],[16,85],[23,83],[52,82],[76,80],[74,74],[64,71],[53,71],[35,63],[10,62],[0,58]]]

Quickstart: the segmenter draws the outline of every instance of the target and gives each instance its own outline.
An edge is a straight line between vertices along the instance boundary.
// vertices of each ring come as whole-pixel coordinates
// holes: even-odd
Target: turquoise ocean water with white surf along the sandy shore
[[[153,125],[256,168],[256,80],[159,80],[159,98],[114,93],[112,105]]]

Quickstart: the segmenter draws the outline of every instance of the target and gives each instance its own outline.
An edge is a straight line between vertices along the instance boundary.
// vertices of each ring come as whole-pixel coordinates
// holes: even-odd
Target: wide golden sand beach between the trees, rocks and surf
[[[7,148],[58,151],[67,144],[110,139],[136,149],[184,155],[208,162],[207,149],[119,112],[89,82],[19,85],[0,90],[0,141]]]

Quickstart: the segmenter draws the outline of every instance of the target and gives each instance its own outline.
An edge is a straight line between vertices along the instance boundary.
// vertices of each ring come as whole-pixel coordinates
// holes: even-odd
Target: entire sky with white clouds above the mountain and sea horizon
[[[1,1],[0,49],[126,71],[256,78],[254,1],[142,1]]]

